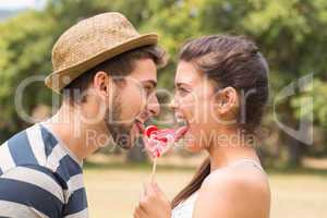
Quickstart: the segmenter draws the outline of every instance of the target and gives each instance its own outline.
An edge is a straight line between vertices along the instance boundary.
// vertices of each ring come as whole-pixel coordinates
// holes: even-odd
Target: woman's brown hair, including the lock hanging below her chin
[[[187,41],[180,51],[180,60],[192,62],[209,80],[217,82],[219,88],[230,86],[245,94],[251,92],[251,98],[241,99],[246,122],[240,123],[240,128],[245,133],[255,132],[262,121],[269,87],[267,62],[252,40],[243,36],[204,36]],[[175,207],[196,192],[209,173],[208,157],[191,182],[173,198],[171,206]]]

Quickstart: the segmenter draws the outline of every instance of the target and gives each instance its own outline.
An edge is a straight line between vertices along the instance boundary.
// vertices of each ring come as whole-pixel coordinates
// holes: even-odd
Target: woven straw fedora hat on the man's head
[[[53,72],[46,85],[60,93],[81,74],[125,51],[156,45],[158,35],[141,35],[118,12],[108,12],[83,20],[65,31],[52,49]]]

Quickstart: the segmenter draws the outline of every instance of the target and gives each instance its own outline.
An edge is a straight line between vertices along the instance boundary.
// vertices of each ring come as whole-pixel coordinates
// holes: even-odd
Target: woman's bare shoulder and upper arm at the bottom
[[[266,174],[252,166],[214,171],[204,181],[195,217],[269,217],[270,190]]]

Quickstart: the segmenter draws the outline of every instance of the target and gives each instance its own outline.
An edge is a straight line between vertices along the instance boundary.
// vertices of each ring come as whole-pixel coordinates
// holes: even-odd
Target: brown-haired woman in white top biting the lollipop
[[[268,99],[268,66],[255,44],[240,36],[205,36],[180,51],[175,95],[185,146],[209,157],[170,204],[146,185],[135,218],[267,218],[270,192],[254,146]]]

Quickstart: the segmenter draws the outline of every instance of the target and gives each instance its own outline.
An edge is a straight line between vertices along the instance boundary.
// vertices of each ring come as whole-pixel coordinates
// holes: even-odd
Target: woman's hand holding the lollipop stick
[[[144,193],[135,208],[134,218],[171,218],[170,202],[157,183],[144,185]]]

